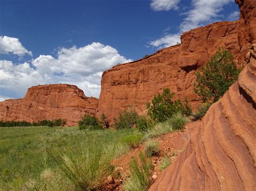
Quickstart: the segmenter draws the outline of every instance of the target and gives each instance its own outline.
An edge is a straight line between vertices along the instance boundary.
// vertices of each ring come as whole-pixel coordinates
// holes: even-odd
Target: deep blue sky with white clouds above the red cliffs
[[[104,70],[238,17],[233,0],[0,0],[0,101],[45,83],[98,97]]]

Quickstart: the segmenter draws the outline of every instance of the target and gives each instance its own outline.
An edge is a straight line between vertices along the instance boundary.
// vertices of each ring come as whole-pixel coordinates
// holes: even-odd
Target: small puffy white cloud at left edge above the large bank
[[[18,38],[0,36],[0,54],[16,54],[18,56],[23,56],[29,54],[32,56],[32,52],[28,51]]]

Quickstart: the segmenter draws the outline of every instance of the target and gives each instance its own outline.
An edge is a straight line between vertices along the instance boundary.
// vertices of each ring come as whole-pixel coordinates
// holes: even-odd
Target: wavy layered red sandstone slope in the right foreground
[[[255,1],[237,1],[239,42],[248,64],[227,93],[207,111],[184,153],[150,190],[255,190],[256,36]],[[253,12],[254,11],[254,12]],[[254,27],[253,27],[254,26]]]

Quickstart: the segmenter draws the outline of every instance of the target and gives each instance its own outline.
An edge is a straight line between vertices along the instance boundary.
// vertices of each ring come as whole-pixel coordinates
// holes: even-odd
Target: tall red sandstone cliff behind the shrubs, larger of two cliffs
[[[175,98],[198,103],[193,84],[195,72],[205,65],[218,47],[240,52],[238,22],[218,22],[191,30],[181,36],[181,44],[161,49],[147,58],[118,65],[103,73],[98,116],[116,117],[128,105],[143,113],[146,102],[169,87]]]

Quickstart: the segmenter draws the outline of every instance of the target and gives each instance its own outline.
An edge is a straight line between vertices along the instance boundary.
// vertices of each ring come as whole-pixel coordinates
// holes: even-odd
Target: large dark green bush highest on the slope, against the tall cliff
[[[219,48],[217,53],[196,73],[194,91],[204,102],[217,102],[238,79],[241,69],[233,61],[233,55]]]

